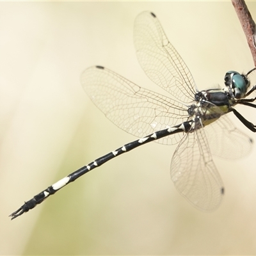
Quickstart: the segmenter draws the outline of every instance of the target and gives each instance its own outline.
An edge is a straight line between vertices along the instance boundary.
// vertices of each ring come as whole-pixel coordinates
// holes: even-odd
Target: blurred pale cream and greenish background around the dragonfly
[[[0,6],[1,255],[256,254],[255,148],[237,161],[214,157],[226,195],[212,213],[175,190],[169,169],[176,146],[150,143],[8,219],[24,200],[135,139],[95,108],[79,77],[86,67],[104,65],[158,90],[136,60],[138,13],[156,13],[200,89],[222,86],[227,70],[252,68],[229,1]],[[256,3],[248,7],[256,17]],[[241,112],[256,122],[255,109]]]

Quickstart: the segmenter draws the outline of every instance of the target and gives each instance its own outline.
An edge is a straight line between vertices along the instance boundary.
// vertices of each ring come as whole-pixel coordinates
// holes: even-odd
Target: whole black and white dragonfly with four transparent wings
[[[182,196],[202,211],[214,211],[220,205],[225,189],[212,155],[237,159],[246,156],[252,148],[253,140],[239,131],[227,114],[234,113],[250,131],[256,131],[256,125],[234,108],[238,104],[256,108],[253,104],[256,85],[250,83],[255,68],[247,74],[228,71],[224,88],[199,91],[189,68],[152,12],[143,12],[136,18],[134,44],[145,74],[167,96],[142,88],[102,66],[84,70],[81,83],[111,122],[140,139],[95,159],[49,186],[10,214],[12,220],[85,173],[150,141],[178,144],[170,174]]]

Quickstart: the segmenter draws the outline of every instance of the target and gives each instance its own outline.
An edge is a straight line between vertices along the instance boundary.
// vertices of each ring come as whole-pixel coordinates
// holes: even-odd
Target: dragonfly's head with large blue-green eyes
[[[232,98],[241,99],[247,92],[250,86],[250,81],[247,75],[239,74],[236,71],[228,71],[225,74],[225,86],[228,87],[228,92]]]

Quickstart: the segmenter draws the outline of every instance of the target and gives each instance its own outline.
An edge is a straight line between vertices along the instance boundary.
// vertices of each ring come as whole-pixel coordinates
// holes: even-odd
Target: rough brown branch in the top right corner
[[[244,30],[248,45],[252,52],[252,58],[256,67],[256,35],[255,35],[255,22],[249,12],[244,0],[231,0],[236,10],[237,17],[240,20],[241,26]]]

